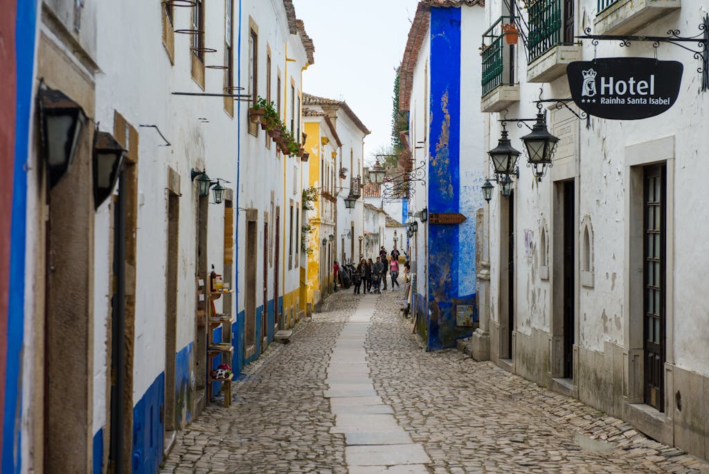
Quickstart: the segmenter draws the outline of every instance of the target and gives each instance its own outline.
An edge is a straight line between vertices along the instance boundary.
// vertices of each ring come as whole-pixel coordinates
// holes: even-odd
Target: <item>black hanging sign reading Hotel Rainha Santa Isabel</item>
[[[637,120],[667,111],[677,100],[682,63],[650,57],[603,57],[566,66],[571,97],[588,115]]]

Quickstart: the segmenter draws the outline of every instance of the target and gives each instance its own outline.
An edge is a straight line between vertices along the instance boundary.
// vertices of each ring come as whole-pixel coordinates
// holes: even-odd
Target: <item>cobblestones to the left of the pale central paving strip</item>
[[[231,407],[211,404],[177,440],[163,473],[346,473],[345,435],[323,397],[330,352],[357,297],[337,294],[329,311],[298,324],[233,383]]]

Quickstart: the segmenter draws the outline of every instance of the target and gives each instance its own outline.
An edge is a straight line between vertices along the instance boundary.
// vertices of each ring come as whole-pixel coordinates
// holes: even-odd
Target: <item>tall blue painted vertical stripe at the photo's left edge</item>
[[[7,363],[2,434],[2,472],[21,470],[21,354],[24,334],[27,176],[25,165],[30,136],[33,94],[37,1],[18,0],[15,18],[17,97],[15,103],[15,158],[10,236],[10,272],[7,318]]]

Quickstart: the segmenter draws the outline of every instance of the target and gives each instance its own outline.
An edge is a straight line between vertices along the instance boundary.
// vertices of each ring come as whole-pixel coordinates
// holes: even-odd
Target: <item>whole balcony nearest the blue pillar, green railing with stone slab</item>
[[[514,17],[501,16],[488,31],[483,33],[482,88],[480,109],[483,112],[498,112],[520,101],[520,87],[515,84],[514,45],[506,45],[502,35],[502,23],[512,23]]]

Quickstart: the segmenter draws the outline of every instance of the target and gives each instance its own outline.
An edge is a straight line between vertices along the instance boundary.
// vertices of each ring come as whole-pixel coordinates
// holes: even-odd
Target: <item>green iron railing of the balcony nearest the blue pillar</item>
[[[483,33],[483,45],[480,48],[482,56],[482,87],[483,97],[492,92],[502,84],[513,85],[514,75],[514,55],[510,53],[508,59],[510,64],[505,67],[504,40],[502,34],[503,23],[513,23],[513,16],[501,16],[488,30]],[[514,48],[514,46],[510,46]],[[505,72],[508,73],[508,80],[505,80]]]

